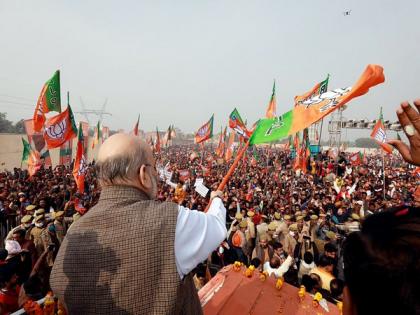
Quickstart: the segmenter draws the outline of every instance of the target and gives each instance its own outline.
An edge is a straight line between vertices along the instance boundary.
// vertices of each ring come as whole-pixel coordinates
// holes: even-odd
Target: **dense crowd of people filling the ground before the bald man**
[[[410,235],[416,237],[418,231],[411,223],[395,228],[398,232],[395,235],[383,235],[379,240],[375,235],[380,234],[381,228],[396,224],[395,218],[401,221],[415,216],[418,220],[418,211],[408,210],[420,204],[419,172],[414,165],[404,162],[397,154],[383,157],[380,151],[365,155],[356,165],[350,160],[350,153],[341,152],[332,158],[325,150],[309,157],[305,169],[296,169],[293,157],[294,152],[283,147],[249,148],[223,193],[213,196],[220,197],[226,207],[227,232],[208,259],[192,270],[197,290],[222,267],[239,261],[282,277],[294,286],[303,285],[307,292],[321,292],[335,303],[343,299],[345,281],[350,290],[355,290],[356,282],[352,279],[360,277],[358,272],[370,272],[354,261],[362,256],[377,259],[378,253],[371,249],[371,243],[391,242],[394,236],[398,239],[405,235],[408,235],[407,242],[413,242]],[[413,164],[419,164],[415,161],[417,157],[411,155]],[[198,190],[196,183],[216,191],[233,160],[225,161],[218,156],[213,145],[168,146],[154,152],[154,158],[155,165],[150,164],[153,158],[148,158],[149,162],[139,160],[143,163],[140,164],[140,191],[150,191],[147,196],[141,193],[142,198],[156,196],[158,201],[200,212],[209,203],[209,193]],[[410,160],[407,152],[404,158]],[[109,166],[106,163],[100,164],[102,172]],[[156,192],[153,180],[142,177],[145,166],[153,166],[160,177]],[[128,166],[121,164],[121,167],[127,170]],[[74,222],[98,203],[101,187],[97,171],[97,165],[92,162],[87,168],[83,193],[77,190],[72,165],[41,168],[32,177],[19,168],[0,173],[4,239],[4,248],[0,250],[1,314],[16,311],[51,290],[51,270],[66,234]],[[224,209],[223,204],[218,205],[220,211]],[[395,209],[386,212],[389,217],[376,216],[389,208]],[[219,214],[223,213],[220,211]],[[383,226],[375,218],[380,218]],[[359,231],[363,221],[365,234],[376,231],[372,238],[351,233]],[[180,235],[178,230],[176,233]],[[351,242],[346,242],[348,239]],[[354,246],[358,242],[364,245]],[[348,249],[343,250],[346,243]],[[398,241],[395,244],[395,253],[404,256],[405,249]],[[176,246],[175,250],[179,250]],[[405,262],[412,264],[413,257],[404,256]],[[178,273],[184,277],[179,268]],[[408,299],[413,295],[401,293],[401,296]],[[352,297],[360,301],[365,298],[354,291]]]

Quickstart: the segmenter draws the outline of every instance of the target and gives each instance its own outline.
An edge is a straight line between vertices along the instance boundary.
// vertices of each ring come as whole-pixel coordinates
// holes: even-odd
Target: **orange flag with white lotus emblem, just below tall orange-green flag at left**
[[[77,128],[70,105],[64,112],[45,122],[44,139],[48,149],[58,148],[76,135]]]

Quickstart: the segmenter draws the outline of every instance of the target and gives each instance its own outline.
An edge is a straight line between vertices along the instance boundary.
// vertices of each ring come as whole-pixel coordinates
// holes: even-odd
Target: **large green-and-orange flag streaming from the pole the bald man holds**
[[[262,119],[252,134],[250,144],[267,143],[286,138],[309,127],[355,97],[366,94],[369,88],[385,81],[383,68],[368,65],[353,87],[335,89],[300,102],[285,114]]]

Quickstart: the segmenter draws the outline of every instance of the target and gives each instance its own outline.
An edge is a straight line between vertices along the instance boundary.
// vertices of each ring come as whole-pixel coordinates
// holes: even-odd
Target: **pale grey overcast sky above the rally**
[[[0,111],[30,118],[60,69],[62,103],[66,91],[74,111],[80,97],[90,109],[107,98],[111,129],[140,114],[142,129],[191,132],[214,113],[219,130],[234,107],[263,116],[273,79],[280,114],[328,73],[330,88],[346,87],[376,63],[386,82],[344,116],[375,119],[383,106],[395,120],[400,101],[420,97],[419,16],[418,0],[0,0]]]

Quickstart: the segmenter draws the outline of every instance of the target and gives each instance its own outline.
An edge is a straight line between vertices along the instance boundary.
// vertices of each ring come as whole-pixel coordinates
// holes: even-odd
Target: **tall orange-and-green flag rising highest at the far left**
[[[60,71],[57,70],[51,79],[42,87],[36,102],[33,117],[33,128],[40,132],[45,123],[45,114],[51,111],[61,112]]]

